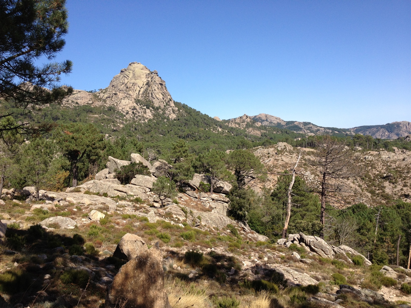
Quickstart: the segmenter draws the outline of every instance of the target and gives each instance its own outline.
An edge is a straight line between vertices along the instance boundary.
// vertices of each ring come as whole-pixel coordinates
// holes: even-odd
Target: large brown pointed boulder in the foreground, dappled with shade
[[[158,242],[149,250],[124,264],[106,296],[106,308],[127,300],[127,306],[139,308],[171,308],[164,290],[162,252]],[[119,305],[121,306],[121,304]]]

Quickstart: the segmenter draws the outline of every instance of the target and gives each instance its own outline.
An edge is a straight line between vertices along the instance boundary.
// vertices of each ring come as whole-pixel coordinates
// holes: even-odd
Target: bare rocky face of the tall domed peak
[[[146,106],[147,102],[152,103],[152,107]],[[131,62],[113,77],[107,88],[96,93],[74,90],[63,104],[72,106],[73,103],[115,106],[125,117],[141,122],[153,117],[153,108],[159,108],[169,119],[174,119],[178,111],[165,81],[158,76],[157,71],[150,71],[139,62]]]

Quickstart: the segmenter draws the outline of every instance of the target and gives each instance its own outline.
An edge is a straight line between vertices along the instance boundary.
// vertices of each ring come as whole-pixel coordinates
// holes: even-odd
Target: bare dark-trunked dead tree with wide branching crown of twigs
[[[323,225],[326,222],[326,203],[344,204],[339,198],[343,184],[340,179],[355,177],[362,172],[359,168],[353,152],[344,143],[325,136],[316,140],[315,158],[310,161],[314,167],[319,167],[321,173],[321,214],[320,221]],[[321,231],[320,237],[324,237]]]

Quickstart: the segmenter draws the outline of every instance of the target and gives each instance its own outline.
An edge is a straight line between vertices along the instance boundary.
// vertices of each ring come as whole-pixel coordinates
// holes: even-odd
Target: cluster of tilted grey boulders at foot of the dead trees
[[[334,256],[338,255],[343,258],[342,260],[344,262],[352,262],[349,256],[360,255],[364,259],[364,264],[371,265],[371,262],[366,257],[348,246],[333,246],[320,237],[305,235],[302,232],[289,234],[288,239],[279,239],[277,240],[277,244],[285,245],[287,247],[290,247],[291,244],[296,244],[297,246],[304,248],[307,253],[314,253],[323,258],[334,259]],[[302,260],[302,262],[304,262],[304,260]]]

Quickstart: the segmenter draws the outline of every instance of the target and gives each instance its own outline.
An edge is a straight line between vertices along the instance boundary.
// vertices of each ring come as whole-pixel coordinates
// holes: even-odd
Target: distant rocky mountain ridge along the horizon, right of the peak
[[[311,122],[284,121],[274,115],[260,113],[259,115],[242,115],[233,119],[226,120],[226,125],[238,128],[245,128],[249,125],[259,126],[274,126],[280,129],[289,129],[296,133],[303,133],[307,136],[324,135],[324,134],[345,134],[345,135],[371,135],[374,138],[381,139],[397,139],[411,134],[411,122],[401,121],[387,123],[384,125],[364,125],[353,127],[350,129],[339,129],[336,127],[323,127],[315,125]],[[248,125],[248,126],[249,126]],[[250,127],[247,129],[252,131]]]

